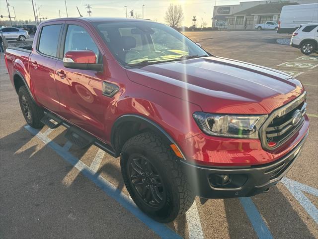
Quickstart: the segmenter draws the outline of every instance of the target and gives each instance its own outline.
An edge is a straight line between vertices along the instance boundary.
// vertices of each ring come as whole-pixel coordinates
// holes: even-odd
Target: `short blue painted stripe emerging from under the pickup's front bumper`
[[[272,239],[272,234],[268,230],[251,198],[239,198],[239,201],[242,204],[257,237],[259,239]]]

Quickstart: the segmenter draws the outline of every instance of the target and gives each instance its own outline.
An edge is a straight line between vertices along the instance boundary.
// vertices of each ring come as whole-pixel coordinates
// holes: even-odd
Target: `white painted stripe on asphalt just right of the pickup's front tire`
[[[204,239],[196,201],[193,202],[185,215],[188,224],[189,239]]]

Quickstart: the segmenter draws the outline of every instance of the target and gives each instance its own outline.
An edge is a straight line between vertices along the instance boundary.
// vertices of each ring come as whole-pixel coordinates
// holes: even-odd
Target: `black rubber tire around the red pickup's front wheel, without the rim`
[[[166,197],[164,206],[154,210],[138,195],[129,177],[129,158],[135,154],[147,157],[161,176]],[[149,217],[160,223],[168,223],[184,214],[193,204],[193,195],[180,159],[172,149],[153,132],[144,132],[129,139],[121,151],[121,172],[126,188],[136,205]]]

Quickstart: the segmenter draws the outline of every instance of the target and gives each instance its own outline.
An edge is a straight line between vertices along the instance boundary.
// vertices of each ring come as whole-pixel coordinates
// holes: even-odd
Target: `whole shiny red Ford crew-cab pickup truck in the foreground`
[[[136,205],[159,222],[195,196],[267,192],[309,131],[306,92],[283,72],[216,57],[149,20],[42,22],[5,62],[32,127],[67,127],[80,148],[121,157]]]

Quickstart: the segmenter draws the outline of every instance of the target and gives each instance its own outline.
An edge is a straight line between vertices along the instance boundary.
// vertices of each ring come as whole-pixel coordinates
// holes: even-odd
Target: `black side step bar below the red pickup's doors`
[[[60,117],[54,115],[53,113],[45,113],[41,122],[49,126],[50,128],[57,128],[60,125],[63,125],[67,128],[65,137],[78,146],[80,149],[87,148],[94,144],[98,148],[104,150],[106,153],[110,154],[113,157],[118,157],[119,154],[108,144],[94,137],[90,133],[80,129],[79,127],[70,124],[69,122],[61,119]]]

